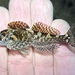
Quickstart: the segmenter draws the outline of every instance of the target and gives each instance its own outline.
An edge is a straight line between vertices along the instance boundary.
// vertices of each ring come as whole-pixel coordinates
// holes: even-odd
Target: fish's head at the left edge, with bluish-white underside
[[[16,36],[13,35],[13,32],[8,29],[0,32],[0,46],[7,46],[10,41],[17,40]]]

